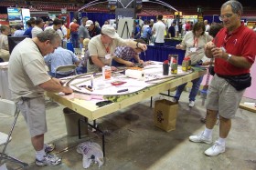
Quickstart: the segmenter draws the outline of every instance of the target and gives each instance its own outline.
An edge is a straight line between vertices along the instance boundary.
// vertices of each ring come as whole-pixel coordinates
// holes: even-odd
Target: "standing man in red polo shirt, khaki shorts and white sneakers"
[[[213,42],[206,45],[206,55],[215,58],[216,74],[209,85],[205,130],[189,136],[192,142],[211,144],[212,129],[219,113],[219,139],[205,151],[206,155],[225,152],[231,118],[236,114],[245,88],[251,85],[250,68],[256,55],[256,34],[240,23],[242,10],[239,1],[224,3],[219,16],[224,28]]]

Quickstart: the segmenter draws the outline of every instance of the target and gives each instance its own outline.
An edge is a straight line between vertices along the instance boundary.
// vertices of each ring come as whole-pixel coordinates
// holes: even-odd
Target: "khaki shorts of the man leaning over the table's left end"
[[[44,97],[23,98],[18,101],[17,107],[27,122],[31,137],[48,131]]]

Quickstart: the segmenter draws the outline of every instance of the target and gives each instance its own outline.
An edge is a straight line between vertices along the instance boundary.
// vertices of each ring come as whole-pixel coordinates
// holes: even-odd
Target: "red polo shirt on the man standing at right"
[[[256,55],[256,34],[243,24],[228,35],[227,28],[222,28],[214,39],[217,47],[223,46],[230,55],[245,57],[251,64]],[[250,73],[250,69],[231,65],[222,58],[215,58],[215,73],[219,75],[242,75]]]

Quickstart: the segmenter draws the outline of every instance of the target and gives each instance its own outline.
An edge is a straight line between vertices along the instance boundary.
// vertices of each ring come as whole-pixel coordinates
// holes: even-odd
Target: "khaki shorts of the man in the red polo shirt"
[[[224,78],[215,74],[208,88],[206,107],[209,110],[218,111],[224,118],[233,118],[244,91],[237,91]]]

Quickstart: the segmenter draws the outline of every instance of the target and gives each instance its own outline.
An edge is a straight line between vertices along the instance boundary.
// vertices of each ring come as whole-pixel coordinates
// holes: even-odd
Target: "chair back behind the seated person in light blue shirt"
[[[62,78],[69,75],[77,75],[76,68],[77,68],[76,65],[61,65],[56,68],[55,77]],[[68,74],[60,74],[63,72],[67,72]]]

